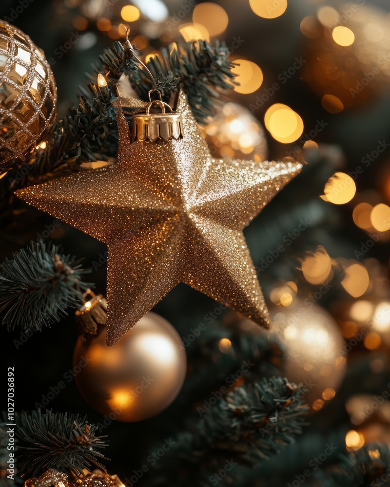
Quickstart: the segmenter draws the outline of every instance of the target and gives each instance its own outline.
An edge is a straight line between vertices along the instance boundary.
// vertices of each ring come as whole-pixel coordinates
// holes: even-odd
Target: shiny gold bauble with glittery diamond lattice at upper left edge
[[[0,172],[39,143],[56,104],[57,87],[43,52],[0,20]]]

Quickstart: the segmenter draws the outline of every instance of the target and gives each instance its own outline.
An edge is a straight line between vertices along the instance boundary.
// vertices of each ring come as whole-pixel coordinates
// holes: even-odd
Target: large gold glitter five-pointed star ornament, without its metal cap
[[[108,245],[108,345],[179,282],[269,324],[243,229],[302,165],[214,159],[181,91],[176,111],[183,138],[132,142],[118,111],[114,166],[16,193]]]

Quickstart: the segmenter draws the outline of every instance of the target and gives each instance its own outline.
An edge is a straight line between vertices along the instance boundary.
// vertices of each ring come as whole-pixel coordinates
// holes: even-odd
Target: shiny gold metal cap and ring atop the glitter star
[[[151,90],[153,92],[155,90]],[[174,139],[183,138],[183,122],[181,114],[174,112],[172,108],[164,103],[161,99],[159,91],[159,100],[151,100],[149,92],[149,100],[146,111],[142,113],[135,113],[133,116],[133,131],[132,140],[150,140],[155,142],[157,139],[168,140],[171,137]],[[160,112],[156,110],[160,109]],[[166,112],[166,109],[169,112]],[[152,110],[154,110],[152,112]]]

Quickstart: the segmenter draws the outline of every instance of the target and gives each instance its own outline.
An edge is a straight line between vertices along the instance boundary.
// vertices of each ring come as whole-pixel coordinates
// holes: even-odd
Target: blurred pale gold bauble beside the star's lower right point
[[[286,346],[286,377],[303,382],[305,400],[318,411],[334,397],[345,373],[344,340],[336,322],[320,306],[297,301],[276,311],[271,332]]]

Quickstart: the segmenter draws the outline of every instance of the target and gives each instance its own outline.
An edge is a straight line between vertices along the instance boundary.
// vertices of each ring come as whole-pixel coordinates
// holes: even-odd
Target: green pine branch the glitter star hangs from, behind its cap
[[[199,122],[216,112],[219,92],[234,88],[234,63],[228,59],[223,43],[212,47],[207,41],[189,42],[178,47],[162,49],[158,58],[147,66],[156,78],[158,90],[168,100],[181,84],[189,97]],[[105,76],[107,86],[97,87],[98,73]],[[45,139],[46,148],[35,149],[26,160],[27,174],[10,171],[7,180],[15,190],[19,186],[41,182],[45,177],[80,170],[80,164],[90,161],[115,160],[117,157],[116,83],[129,75],[137,94],[147,100],[151,79],[140,69],[128,46],[116,42],[100,56],[88,76],[88,84],[79,87],[81,97],[71,114],[53,124]],[[133,107],[127,107],[130,110]],[[26,173],[26,171],[24,171]],[[4,184],[4,183],[3,183]]]

